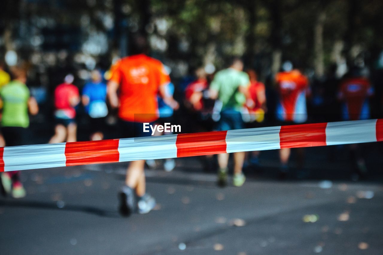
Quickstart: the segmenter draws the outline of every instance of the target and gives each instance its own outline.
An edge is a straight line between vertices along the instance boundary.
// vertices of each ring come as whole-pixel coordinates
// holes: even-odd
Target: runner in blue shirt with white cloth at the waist
[[[88,113],[90,140],[102,140],[105,132],[105,117],[108,115],[106,106],[106,84],[102,82],[101,73],[93,70],[91,82],[85,84],[82,90],[82,104]]]

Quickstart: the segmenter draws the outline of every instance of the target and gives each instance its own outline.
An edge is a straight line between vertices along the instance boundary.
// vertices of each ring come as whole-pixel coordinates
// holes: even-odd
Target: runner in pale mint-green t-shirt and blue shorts
[[[222,102],[221,118],[219,119],[219,131],[243,129],[241,108],[246,102],[246,95],[250,85],[249,75],[243,70],[243,62],[234,58],[228,69],[219,71],[210,84],[210,97]],[[245,159],[245,152],[234,153],[234,186],[242,186],[245,176],[242,167]],[[229,154],[218,155],[218,184],[225,186],[228,178]]]

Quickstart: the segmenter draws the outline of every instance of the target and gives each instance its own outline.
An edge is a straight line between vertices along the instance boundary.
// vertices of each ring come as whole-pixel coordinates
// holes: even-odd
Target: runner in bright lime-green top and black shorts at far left
[[[3,108],[2,134],[6,146],[25,145],[26,128],[29,126],[28,111],[38,113],[36,100],[29,95],[26,87],[26,71],[21,68],[13,70],[15,79],[5,85],[0,91],[0,105]],[[19,171],[5,172],[1,175],[1,184],[6,193],[13,198],[22,198],[26,195],[20,182]]]

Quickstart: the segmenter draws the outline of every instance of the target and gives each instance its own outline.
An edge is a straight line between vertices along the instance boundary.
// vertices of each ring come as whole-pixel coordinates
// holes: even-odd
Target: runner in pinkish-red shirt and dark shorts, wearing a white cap
[[[75,106],[80,103],[80,93],[72,84],[73,80],[73,75],[68,74],[64,78],[64,83],[58,85],[54,91],[56,127],[54,136],[49,140],[50,144],[77,141]]]

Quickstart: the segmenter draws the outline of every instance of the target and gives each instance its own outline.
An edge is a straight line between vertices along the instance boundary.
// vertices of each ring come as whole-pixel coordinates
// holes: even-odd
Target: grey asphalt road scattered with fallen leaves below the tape
[[[117,211],[125,163],[26,170],[28,196],[0,199],[0,254],[383,254],[381,154],[351,181],[346,154],[306,152],[304,179],[275,180],[277,152],[262,152],[241,188],[218,188],[196,158],[147,170],[157,207],[129,218]]]

